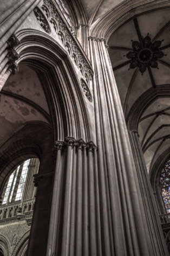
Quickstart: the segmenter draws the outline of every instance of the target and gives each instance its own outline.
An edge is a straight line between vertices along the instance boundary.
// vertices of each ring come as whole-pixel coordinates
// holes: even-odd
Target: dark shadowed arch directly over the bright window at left
[[[49,150],[53,146],[53,141],[50,139],[51,129],[49,125],[36,121],[23,124],[14,134],[6,139],[1,147],[1,189],[16,165],[32,157],[39,158],[40,161],[42,159],[43,149],[45,148],[43,140],[41,141],[40,138],[35,138],[35,135],[32,136],[31,134],[29,135],[29,133],[25,133],[27,129],[30,133],[34,131],[34,129],[42,129],[44,135],[49,137]],[[24,135],[27,136],[24,138]]]

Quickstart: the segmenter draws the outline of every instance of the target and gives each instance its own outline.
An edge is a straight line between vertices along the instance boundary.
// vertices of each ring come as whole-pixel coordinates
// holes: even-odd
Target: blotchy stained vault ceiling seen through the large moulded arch
[[[36,72],[20,64],[1,91],[0,147],[24,124],[34,121],[49,124],[49,108]]]

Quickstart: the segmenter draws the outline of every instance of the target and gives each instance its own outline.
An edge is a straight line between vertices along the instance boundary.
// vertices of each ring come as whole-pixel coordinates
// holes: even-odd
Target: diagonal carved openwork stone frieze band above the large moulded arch
[[[83,74],[87,74],[89,80],[93,78],[93,71],[90,68],[88,62],[86,61],[85,57],[81,53],[79,46],[77,45],[74,36],[72,35],[71,31],[67,28],[66,24],[64,24],[60,14],[58,13],[54,3],[50,0],[44,0],[44,4],[42,6],[42,10],[44,11],[45,15],[47,16],[49,22],[53,24],[53,27],[56,33],[61,37],[61,41],[64,44],[64,47],[70,47],[70,56],[77,58],[77,67],[80,67],[79,64],[83,67]],[[54,24],[54,21],[56,24]],[[57,28],[56,28],[57,27]]]

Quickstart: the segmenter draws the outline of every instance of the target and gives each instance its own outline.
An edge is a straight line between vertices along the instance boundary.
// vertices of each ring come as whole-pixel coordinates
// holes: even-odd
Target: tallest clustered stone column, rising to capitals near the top
[[[102,255],[168,255],[158,229],[146,225],[143,188],[139,185],[105,40],[90,36],[89,44],[95,72]],[[151,217],[156,225],[155,216]]]

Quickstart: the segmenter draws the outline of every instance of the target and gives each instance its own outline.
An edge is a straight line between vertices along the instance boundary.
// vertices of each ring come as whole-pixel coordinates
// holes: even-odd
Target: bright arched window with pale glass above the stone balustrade
[[[32,165],[32,161],[36,164]],[[22,199],[28,169],[30,167],[36,167],[38,169],[37,165],[39,165],[39,160],[31,158],[16,167],[5,184],[2,204],[8,204]]]

